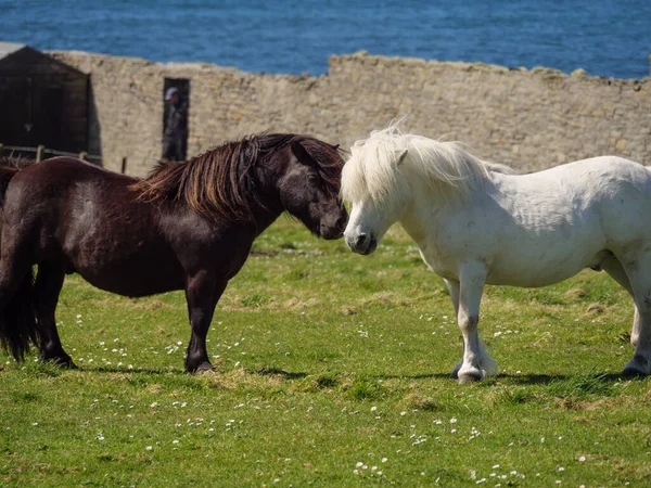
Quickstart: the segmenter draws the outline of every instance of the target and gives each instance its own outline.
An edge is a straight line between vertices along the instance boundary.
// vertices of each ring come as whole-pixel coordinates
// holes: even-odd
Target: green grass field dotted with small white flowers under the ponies
[[[196,376],[182,293],[69,277],[80,369],[0,355],[0,486],[651,485],[650,383],[617,375],[633,305],[605,274],[488,287],[500,375],[458,385],[449,297],[400,231],[362,257],[283,218],[254,249]]]

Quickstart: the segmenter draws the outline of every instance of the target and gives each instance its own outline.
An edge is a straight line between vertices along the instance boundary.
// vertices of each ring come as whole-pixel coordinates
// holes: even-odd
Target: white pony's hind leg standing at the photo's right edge
[[[638,331],[635,352],[624,367],[623,374],[647,375],[651,372],[651,253],[630,259],[629,262],[631,265],[625,266],[624,269],[638,310]]]

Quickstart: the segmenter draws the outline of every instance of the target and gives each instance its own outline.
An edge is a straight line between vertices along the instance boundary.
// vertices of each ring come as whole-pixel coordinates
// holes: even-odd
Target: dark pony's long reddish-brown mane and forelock
[[[251,220],[255,207],[266,208],[255,168],[292,143],[299,143],[315,160],[328,193],[339,194],[344,162],[337,146],[308,136],[266,132],[226,142],[184,163],[158,163],[130,188],[146,202],[184,201],[208,219]]]

